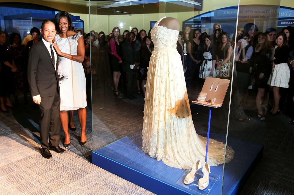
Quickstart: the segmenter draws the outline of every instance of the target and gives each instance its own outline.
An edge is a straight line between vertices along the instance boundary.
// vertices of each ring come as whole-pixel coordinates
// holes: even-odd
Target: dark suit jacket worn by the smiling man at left
[[[56,51],[55,51],[56,52]],[[28,82],[32,96],[54,96],[60,93],[58,78],[58,54],[56,70],[52,58],[42,40],[34,44],[28,52]]]

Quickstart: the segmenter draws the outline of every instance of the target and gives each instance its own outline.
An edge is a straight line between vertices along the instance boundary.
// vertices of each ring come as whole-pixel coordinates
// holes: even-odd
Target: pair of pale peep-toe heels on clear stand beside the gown
[[[186,185],[194,182],[195,179],[195,173],[201,168],[201,162],[198,160],[192,167],[192,170],[190,173],[188,173],[185,177],[184,183]],[[209,172],[210,172],[210,166],[208,165],[207,162],[204,163],[202,167],[202,173],[203,173],[203,178],[200,178],[198,181],[198,188],[200,190],[203,190],[207,188],[209,184]]]

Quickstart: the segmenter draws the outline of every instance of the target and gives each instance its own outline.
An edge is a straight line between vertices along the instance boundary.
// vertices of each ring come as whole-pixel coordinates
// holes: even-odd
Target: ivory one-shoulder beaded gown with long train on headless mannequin
[[[160,19],[161,20],[161,19]],[[168,166],[189,169],[205,163],[206,138],[198,136],[192,121],[183,66],[176,42],[179,31],[158,26],[151,30],[154,51],[149,62],[142,129],[142,150]],[[222,142],[209,140],[207,162],[224,162]],[[226,162],[234,156],[227,147]]]

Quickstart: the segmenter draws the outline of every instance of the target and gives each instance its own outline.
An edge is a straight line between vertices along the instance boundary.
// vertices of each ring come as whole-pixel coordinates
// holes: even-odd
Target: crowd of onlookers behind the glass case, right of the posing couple
[[[145,97],[146,72],[154,47],[150,30],[147,33],[144,29],[139,31],[133,28],[123,31],[121,36],[120,29],[115,27],[107,37],[104,32],[96,35],[91,31],[90,34],[93,48],[99,50],[103,47],[109,54],[114,95],[134,99],[137,98],[134,93],[138,93]],[[237,29],[235,43],[235,37],[230,37],[221,24],[216,23],[212,35],[199,28],[185,26],[184,32],[179,32],[176,48],[183,64],[187,88],[201,90],[206,77],[232,79],[234,76],[234,117],[238,121],[246,121],[242,100],[248,88],[255,88],[256,115],[265,122],[266,114],[279,114],[281,110],[289,117],[294,117],[293,42],[293,27],[285,27],[277,34],[275,28],[260,32],[255,24],[248,23]],[[233,72],[234,57],[236,68]],[[93,66],[99,69],[100,59]],[[119,84],[125,89],[123,95],[118,90]],[[271,91],[273,105],[266,113]],[[294,124],[294,121],[289,124]]]

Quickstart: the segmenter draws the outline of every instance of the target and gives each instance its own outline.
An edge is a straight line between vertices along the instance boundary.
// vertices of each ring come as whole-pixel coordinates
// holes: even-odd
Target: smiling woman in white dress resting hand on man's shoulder
[[[75,130],[73,124],[74,110],[77,110],[81,125],[80,144],[86,143],[86,78],[81,62],[84,61],[85,44],[83,36],[74,32],[72,20],[67,12],[55,15],[55,26],[58,34],[53,44],[59,55],[59,86],[60,86],[60,120],[64,131],[63,145],[70,145],[68,128]],[[68,123],[68,114],[70,122]]]

